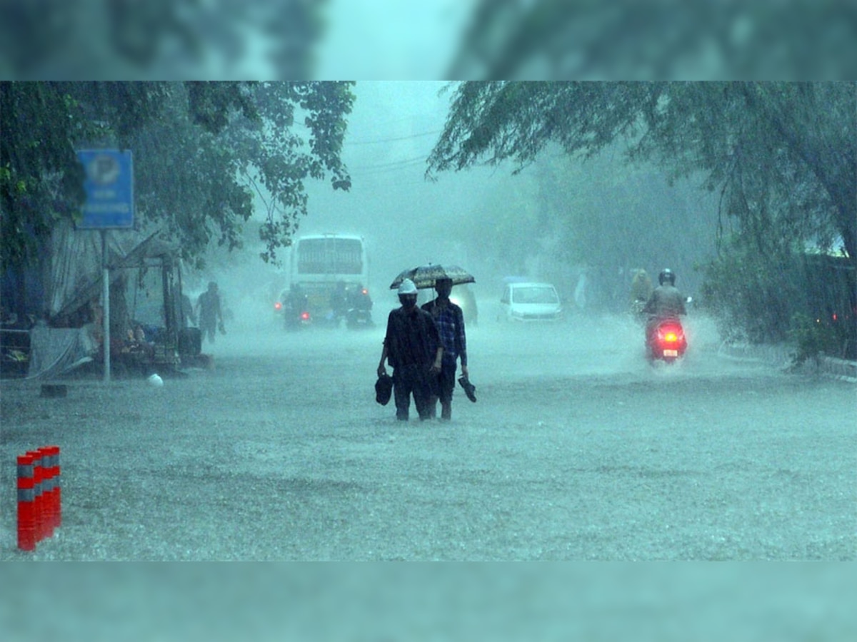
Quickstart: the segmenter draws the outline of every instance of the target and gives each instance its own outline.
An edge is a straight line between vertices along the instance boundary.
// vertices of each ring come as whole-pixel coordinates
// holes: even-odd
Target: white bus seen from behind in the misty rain
[[[353,294],[369,285],[369,257],[363,237],[333,233],[299,236],[291,246],[289,285],[297,285],[307,297],[314,323],[331,318],[338,289]]]

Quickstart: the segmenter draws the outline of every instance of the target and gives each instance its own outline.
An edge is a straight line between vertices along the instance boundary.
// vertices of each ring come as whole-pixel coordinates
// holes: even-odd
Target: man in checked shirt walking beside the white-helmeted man
[[[452,292],[452,279],[438,279],[434,282],[437,297],[423,304],[423,310],[431,314],[440,333],[443,346],[443,361],[440,366],[437,385],[428,403],[432,416],[437,413],[437,401],[440,397],[440,420],[452,419],[452,390],[455,389],[456,361],[461,360],[461,373],[470,377],[467,370],[467,339],[464,334],[464,314],[461,308],[449,300]]]

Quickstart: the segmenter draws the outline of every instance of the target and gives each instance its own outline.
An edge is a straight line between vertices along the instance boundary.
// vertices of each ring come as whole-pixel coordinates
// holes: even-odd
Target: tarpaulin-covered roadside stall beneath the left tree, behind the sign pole
[[[30,330],[27,377],[103,372],[101,250],[94,235],[59,230],[51,257],[49,307]],[[206,365],[182,293],[178,248],[156,235],[111,235],[107,247],[110,365],[117,373],[177,372]]]

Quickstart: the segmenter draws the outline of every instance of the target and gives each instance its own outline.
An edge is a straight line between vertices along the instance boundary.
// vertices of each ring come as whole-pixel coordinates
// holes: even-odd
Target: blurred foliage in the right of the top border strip
[[[850,78],[851,13],[843,3],[482,0],[446,77]]]

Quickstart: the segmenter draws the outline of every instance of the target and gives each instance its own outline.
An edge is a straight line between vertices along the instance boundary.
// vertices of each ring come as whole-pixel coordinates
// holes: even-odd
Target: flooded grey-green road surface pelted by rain
[[[379,318],[383,318],[379,313]],[[231,330],[212,370],[2,383],[3,560],[853,560],[853,383],[650,366],[625,318],[469,328],[452,422],[375,403],[374,330]],[[62,449],[63,526],[16,549],[15,455]]]

